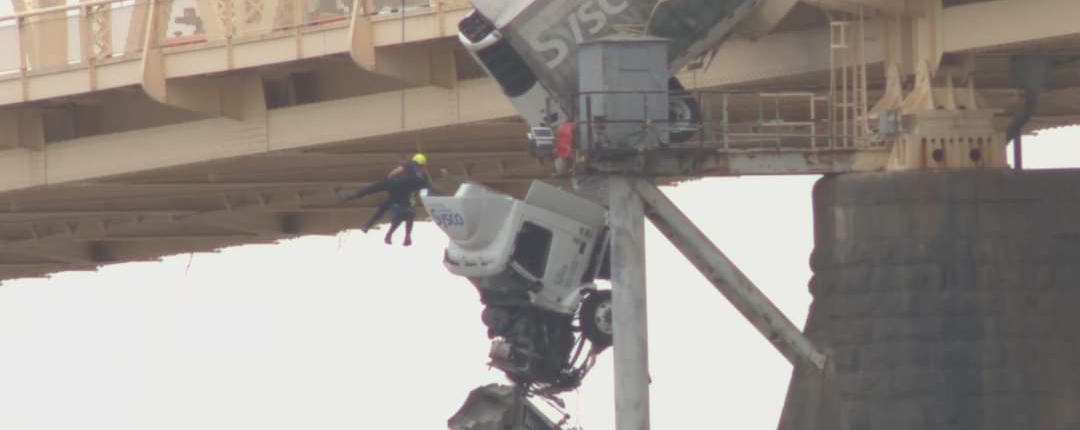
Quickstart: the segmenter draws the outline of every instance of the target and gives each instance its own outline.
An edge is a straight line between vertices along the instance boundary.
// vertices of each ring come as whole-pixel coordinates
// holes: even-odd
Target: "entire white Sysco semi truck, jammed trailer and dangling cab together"
[[[618,32],[664,38],[674,76],[731,36],[764,0],[471,0],[458,39],[529,125],[532,152],[557,153],[556,130],[572,130],[579,94],[578,52]],[[700,107],[669,81],[669,122],[693,124]],[[567,125],[563,127],[562,125]],[[673,130],[677,130],[678,127]],[[671,142],[693,135],[672,132]],[[558,165],[556,160],[556,165]],[[595,354],[611,345],[611,295],[604,207],[543,183],[525,200],[476,184],[453,197],[424,197],[449,236],[444,264],[468,278],[485,305],[491,364],[516,387],[470,395],[454,430],[558,428],[526,419],[525,392],[576,388]],[[583,359],[585,344],[592,348]],[[581,360],[579,360],[581,359]],[[513,401],[507,401],[512,399]],[[523,406],[524,405],[524,406]],[[530,412],[531,411],[531,412]],[[535,414],[532,414],[535,415]]]

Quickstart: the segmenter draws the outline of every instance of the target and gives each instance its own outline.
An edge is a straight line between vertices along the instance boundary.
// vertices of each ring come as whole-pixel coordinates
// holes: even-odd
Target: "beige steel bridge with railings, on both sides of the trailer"
[[[336,191],[415,150],[437,188],[519,193],[550,178],[457,43],[469,12],[13,0],[0,16],[0,280],[335,233],[374,206]],[[1075,0],[766,0],[680,73],[719,132],[702,133],[699,171],[667,176],[1003,165],[1011,126],[1080,123],[1076,16]],[[872,142],[889,111],[921,137]]]

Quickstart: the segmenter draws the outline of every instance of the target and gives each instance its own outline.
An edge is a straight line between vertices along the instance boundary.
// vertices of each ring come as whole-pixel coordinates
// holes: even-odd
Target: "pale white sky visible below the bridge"
[[[1025,142],[1077,165],[1080,129]],[[666,192],[797,324],[810,297],[814,177],[706,179]],[[399,242],[401,231],[399,231]],[[791,366],[651,226],[652,428],[772,429]],[[306,237],[0,287],[0,429],[442,429],[502,381],[472,285],[382,231]],[[611,429],[610,352],[571,424]]]

